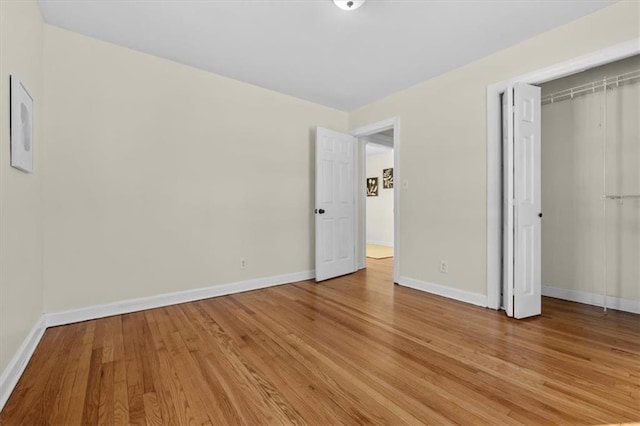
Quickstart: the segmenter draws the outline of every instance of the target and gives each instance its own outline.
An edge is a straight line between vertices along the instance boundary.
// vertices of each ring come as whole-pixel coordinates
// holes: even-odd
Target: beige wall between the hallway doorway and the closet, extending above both
[[[402,276],[486,294],[487,86],[639,36],[639,3],[619,2],[349,114],[401,120]]]

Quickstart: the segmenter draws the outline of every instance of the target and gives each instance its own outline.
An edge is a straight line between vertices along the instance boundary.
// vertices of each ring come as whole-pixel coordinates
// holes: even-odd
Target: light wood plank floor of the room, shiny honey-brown
[[[0,424],[640,421],[640,316],[545,298],[509,320],[368,265],[51,328]]]

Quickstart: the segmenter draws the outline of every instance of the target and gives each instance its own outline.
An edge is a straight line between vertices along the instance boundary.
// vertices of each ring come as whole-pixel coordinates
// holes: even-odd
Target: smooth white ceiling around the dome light
[[[350,111],[613,0],[40,0],[53,25]],[[570,40],[567,40],[570,43]]]

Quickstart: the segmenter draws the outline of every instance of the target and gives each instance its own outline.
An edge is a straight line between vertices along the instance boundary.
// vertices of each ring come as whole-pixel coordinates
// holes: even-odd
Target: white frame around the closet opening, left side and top
[[[540,84],[640,53],[640,38],[487,86],[487,307],[501,308],[502,135],[500,95],[515,83]]]

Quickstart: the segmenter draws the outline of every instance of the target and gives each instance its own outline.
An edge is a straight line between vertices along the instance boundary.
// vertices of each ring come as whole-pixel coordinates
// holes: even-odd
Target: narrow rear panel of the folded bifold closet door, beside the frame
[[[513,194],[513,86],[502,97],[502,302],[508,316],[513,316],[514,269],[514,194]]]

